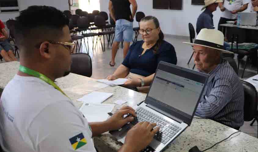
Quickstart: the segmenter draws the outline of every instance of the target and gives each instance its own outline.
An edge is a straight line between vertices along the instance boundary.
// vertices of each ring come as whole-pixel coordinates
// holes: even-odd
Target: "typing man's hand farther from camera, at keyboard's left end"
[[[124,118],[124,115],[127,114],[131,114],[132,116]],[[118,130],[125,124],[132,122],[134,120],[133,117],[136,117],[135,110],[132,107],[123,106],[112,117],[107,119],[107,124],[110,126],[110,130]]]

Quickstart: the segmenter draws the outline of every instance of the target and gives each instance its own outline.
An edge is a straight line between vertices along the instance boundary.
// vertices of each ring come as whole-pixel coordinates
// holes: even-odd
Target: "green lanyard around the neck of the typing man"
[[[62,94],[64,94],[65,96],[67,96],[51,79],[49,79],[48,77],[46,77],[44,74],[41,74],[37,71],[31,70],[30,68],[24,67],[22,65],[20,65],[20,69],[21,72],[29,74],[31,76],[40,78],[41,80],[45,81],[46,83],[48,83],[49,85],[52,85],[54,88],[56,88],[58,91],[60,91]],[[68,96],[67,96],[68,97]],[[69,97],[68,97],[69,98]]]

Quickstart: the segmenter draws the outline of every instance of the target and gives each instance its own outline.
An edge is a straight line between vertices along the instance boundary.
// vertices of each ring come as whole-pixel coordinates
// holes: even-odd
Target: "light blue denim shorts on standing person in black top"
[[[133,41],[133,22],[125,19],[118,19],[115,23],[115,42],[132,42]]]

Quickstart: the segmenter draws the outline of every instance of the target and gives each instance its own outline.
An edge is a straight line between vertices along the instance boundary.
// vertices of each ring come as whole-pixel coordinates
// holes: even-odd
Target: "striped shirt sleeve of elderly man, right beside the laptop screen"
[[[195,114],[204,118],[212,118],[231,101],[232,96],[232,84],[228,79],[221,78],[215,82],[207,100],[202,97]]]

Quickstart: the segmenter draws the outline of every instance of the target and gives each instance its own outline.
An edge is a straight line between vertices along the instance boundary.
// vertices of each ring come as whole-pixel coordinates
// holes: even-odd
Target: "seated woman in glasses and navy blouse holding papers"
[[[164,34],[156,17],[144,17],[140,21],[139,33],[143,40],[131,45],[123,63],[107,79],[129,78],[124,87],[137,87],[139,92],[147,93],[158,63],[165,61],[176,64],[177,57],[173,45],[164,40]]]

